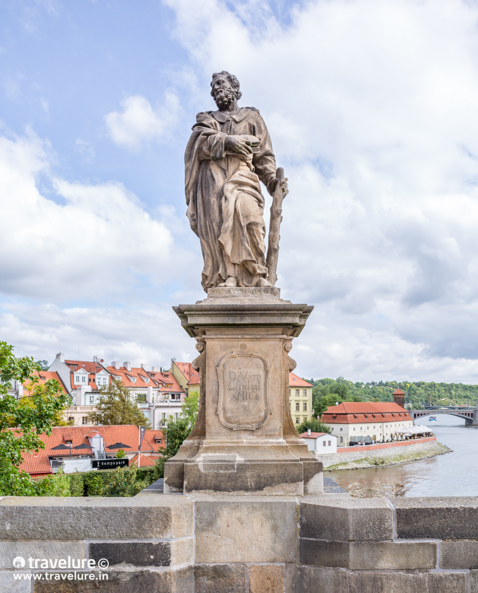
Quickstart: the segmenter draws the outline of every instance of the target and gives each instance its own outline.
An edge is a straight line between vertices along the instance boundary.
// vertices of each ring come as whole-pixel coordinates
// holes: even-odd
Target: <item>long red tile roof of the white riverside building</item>
[[[360,422],[394,422],[412,420],[399,404],[391,402],[344,401],[338,406],[327,407],[322,422],[335,424],[357,424]]]

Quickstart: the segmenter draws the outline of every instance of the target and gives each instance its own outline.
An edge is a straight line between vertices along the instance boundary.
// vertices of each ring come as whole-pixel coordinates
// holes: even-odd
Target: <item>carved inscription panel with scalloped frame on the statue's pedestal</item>
[[[269,402],[269,363],[254,352],[231,352],[216,367],[219,381],[217,414],[234,431],[255,431],[272,413]]]

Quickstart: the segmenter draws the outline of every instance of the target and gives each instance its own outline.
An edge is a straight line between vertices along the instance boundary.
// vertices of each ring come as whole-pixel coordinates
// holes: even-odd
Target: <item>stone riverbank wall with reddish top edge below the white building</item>
[[[413,441],[397,441],[359,447],[340,447],[336,453],[317,455],[327,470],[391,466],[404,461],[415,461],[450,452],[448,447],[436,441],[436,436],[427,436]]]

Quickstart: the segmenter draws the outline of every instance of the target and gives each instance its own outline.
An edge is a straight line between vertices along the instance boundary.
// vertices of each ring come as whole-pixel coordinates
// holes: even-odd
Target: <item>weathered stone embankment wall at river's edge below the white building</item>
[[[397,446],[399,445],[399,446]],[[317,455],[317,459],[322,462],[324,468],[336,466],[339,463],[348,463],[360,459],[386,459],[397,458],[397,460],[406,461],[406,457],[412,458],[415,454],[439,455],[447,452],[449,449],[436,442],[436,436],[418,441],[404,441],[387,445],[364,445],[362,447],[342,447],[344,451],[337,448],[337,453],[329,455]],[[402,459],[403,458],[403,459]]]

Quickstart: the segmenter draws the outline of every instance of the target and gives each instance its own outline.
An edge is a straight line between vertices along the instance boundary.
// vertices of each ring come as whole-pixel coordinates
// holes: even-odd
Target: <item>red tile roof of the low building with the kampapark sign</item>
[[[117,442],[122,442],[125,445],[129,445],[129,449],[125,451],[129,453],[138,451],[139,443],[139,430],[138,426],[135,425],[121,425],[121,426],[98,426],[97,429],[88,430],[86,426],[53,426],[52,434],[47,436],[43,434],[40,436],[44,444],[45,449],[40,449],[38,454],[31,455],[26,452],[22,454],[24,463],[21,464],[20,469],[27,471],[31,475],[37,474],[50,474],[52,468],[50,467],[50,457],[69,457],[69,451],[60,449],[58,451],[52,451],[53,447],[60,445],[65,440],[72,441],[72,447],[77,445],[90,445],[88,436],[92,436],[100,433],[103,436],[103,446],[105,451],[109,453],[107,449],[108,445],[114,445]],[[68,438],[66,438],[68,437]],[[155,439],[162,439],[162,444],[155,443]],[[141,445],[142,451],[157,452],[164,446],[164,433],[162,431],[146,431],[145,436]],[[112,451],[116,453],[116,450]],[[72,450],[72,457],[77,455],[88,455],[87,449]]]

